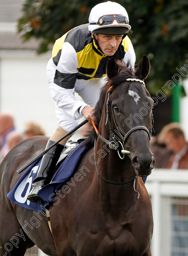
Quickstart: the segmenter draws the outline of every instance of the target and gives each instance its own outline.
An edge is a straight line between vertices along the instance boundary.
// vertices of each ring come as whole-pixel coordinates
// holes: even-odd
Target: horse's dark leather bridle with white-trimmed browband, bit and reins
[[[139,82],[139,83],[142,83],[144,86],[145,86],[145,83],[144,81],[140,80],[140,79],[136,79],[136,78],[128,78],[126,79],[126,81],[135,81],[135,82]],[[115,121],[115,116],[114,116],[114,111],[113,111],[113,107],[112,107],[112,103],[111,103],[111,100],[110,100],[110,89],[108,90],[108,99],[107,99],[107,103],[106,103],[106,114],[107,114],[107,117],[106,117],[106,123],[105,125],[108,124],[108,126],[106,126],[108,129],[109,129],[109,133],[111,134],[111,140],[107,140],[105,139],[104,137],[101,136],[101,134],[98,132],[97,130],[97,127],[95,126],[95,123],[94,121],[91,119],[91,122],[94,126],[94,129],[97,133],[97,136],[103,140],[105,143],[107,143],[109,145],[109,147],[111,149],[114,149],[114,150],[117,150],[118,151],[118,155],[121,159],[124,159],[125,157],[125,154],[130,154],[130,151],[127,151],[125,149],[125,141],[127,140],[128,136],[134,132],[135,130],[145,130],[147,133],[148,133],[148,136],[149,136],[149,140],[151,139],[151,135],[152,135],[152,130],[154,131],[153,129],[153,125],[154,125],[154,120],[153,120],[153,114],[152,115],[152,125],[151,125],[151,129],[150,131],[145,127],[145,126],[142,126],[142,125],[139,125],[139,126],[135,126],[133,128],[131,128],[126,134],[117,126],[117,123]],[[112,116],[113,116],[113,120],[114,120],[114,123],[115,123],[115,127],[118,131],[118,135],[121,137],[121,140],[122,140],[122,143],[121,141],[118,140],[118,138],[115,136],[115,131],[112,130],[111,128],[111,123],[110,123],[110,106],[111,106],[111,110],[112,110]],[[154,131],[155,132],[155,131]],[[101,178],[101,180],[104,180],[105,182],[107,183],[111,183],[111,184],[115,184],[115,185],[123,185],[123,184],[126,184],[128,183],[129,181],[132,181],[134,180],[134,190],[135,190],[135,181],[136,179],[138,178],[138,175],[136,175],[134,178],[132,178],[131,180],[127,180],[125,182],[112,182],[112,181],[109,181],[109,180],[105,180],[103,177],[101,177],[101,175],[99,174],[98,172],[98,168],[97,168],[97,162],[96,162],[96,158],[95,158],[95,144],[96,144],[96,139],[95,139],[95,142],[94,142],[94,161],[95,161],[95,167],[96,167],[96,171],[97,171],[97,175],[99,178]],[[121,157],[120,155],[120,151],[121,150],[121,153],[123,154],[123,157]],[[138,191],[135,190],[136,193],[138,193]],[[139,193],[138,193],[138,198],[139,198]]]

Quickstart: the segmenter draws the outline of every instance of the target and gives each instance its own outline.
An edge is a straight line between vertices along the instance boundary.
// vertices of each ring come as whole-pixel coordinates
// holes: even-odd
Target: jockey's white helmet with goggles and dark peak
[[[125,8],[111,1],[95,5],[91,9],[89,23],[91,33],[122,35],[131,29]]]

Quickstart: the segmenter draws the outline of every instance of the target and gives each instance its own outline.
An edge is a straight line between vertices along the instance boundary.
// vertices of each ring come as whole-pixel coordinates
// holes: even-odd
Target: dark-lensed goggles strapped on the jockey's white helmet
[[[90,23],[90,25],[99,25],[99,26],[104,26],[104,25],[109,25],[112,24],[116,20],[119,24],[128,24],[128,20],[124,15],[120,14],[111,14],[111,15],[104,15],[101,16],[98,19],[98,22]]]

